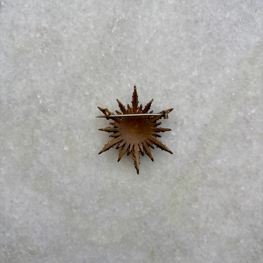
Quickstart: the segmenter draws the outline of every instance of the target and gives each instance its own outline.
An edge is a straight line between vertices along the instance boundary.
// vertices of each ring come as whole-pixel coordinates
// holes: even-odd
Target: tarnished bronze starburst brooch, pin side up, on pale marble
[[[132,152],[134,167],[137,170],[137,174],[139,174],[140,164],[139,152],[141,152],[142,156],[145,152],[153,161],[153,156],[149,146],[154,149],[153,144],[155,144],[157,148],[161,148],[161,150],[165,150],[172,154],[171,150],[169,150],[166,145],[157,140],[157,137],[161,137],[159,132],[171,131],[171,129],[157,127],[161,124],[161,122],[157,123],[156,121],[162,117],[164,119],[168,119],[168,113],[170,113],[173,109],[163,110],[157,114],[153,114],[153,111],[148,113],[153,99],[145,106],[144,109],[142,109],[142,104],[138,107],[136,86],[134,86],[134,92],[132,95],[132,107],[128,104],[126,110],[118,99],[117,102],[121,109],[121,112],[116,110],[117,115],[109,112],[108,109],[98,107],[104,115],[97,117],[106,117],[107,120],[112,119],[114,121],[113,123],[110,123],[113,127],[99,129],[100,131],[113,132],[113,134],[109,135],[109,137],[114,137],[113,140],[105,144],[99,154],[109,150],[114,147],[114,145],[117,145],[116,149],[121,148],[118,158],[118,161],[120,161],[126,151],[127,155]]]

